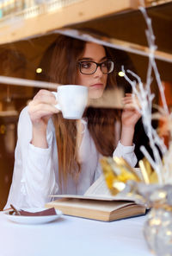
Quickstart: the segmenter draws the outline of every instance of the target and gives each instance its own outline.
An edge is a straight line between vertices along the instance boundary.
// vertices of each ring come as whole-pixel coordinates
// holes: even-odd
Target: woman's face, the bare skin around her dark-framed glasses
[[[86,43],[83,56],[79,59],[79,61],[95,61],[97,63],[101,63],[106,60],[107,56],[105,49],[94,42]],[[77,84],[87,86],[89,88],[89,99],[98,99],[101,97],[107,85],[107,74],[103,74],[101,72],[101,67],[97,67],[94,74],[82,74],[78,68]]]

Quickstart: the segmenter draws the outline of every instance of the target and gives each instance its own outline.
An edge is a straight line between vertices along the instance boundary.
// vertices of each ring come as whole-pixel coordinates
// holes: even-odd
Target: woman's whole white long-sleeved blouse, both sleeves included
[[[58,187],[58,150],[55,129],[52,119],[49,120],[46,137],[48,148],[41,149],[30,144],[32,139],[32,123],[25,107],[19,117],[18,140],[15,147],[15,167],[9,198],[5,208],[10,203],[17,208],[44,207],[51,201],[48,195],[72,194],[83,195],[89,186],[101,176],[99,159],[101,154],[96,150],[95,143],[89,135],[87,123],[83,131],[83,140],[79,149],[82,170],[78,182],[69,178],[66,188]],[[114,156],[124,157],[128,163],[135,166],[137,158],[134,145],[123,146],[118,143]]]

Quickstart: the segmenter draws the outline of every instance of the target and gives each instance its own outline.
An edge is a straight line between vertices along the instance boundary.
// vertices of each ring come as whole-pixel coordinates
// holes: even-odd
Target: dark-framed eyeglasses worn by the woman
[[[101,67],[103,74],[109,74],[114,70],[114,61],[103,61],[96,63],[95,61],[79,61],[79,68],[81,74],[94,74],[97,67]]]

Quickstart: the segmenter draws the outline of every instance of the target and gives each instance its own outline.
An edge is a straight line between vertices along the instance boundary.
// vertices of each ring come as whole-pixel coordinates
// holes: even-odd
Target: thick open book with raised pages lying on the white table
[[[93,183],[84,195],[51,195],[52,202],[46,208],[57,208],[63,214],[89,218],[98,221],[115,221],[145,214],[146,208],[134,198],[110,195],[104,176]]]

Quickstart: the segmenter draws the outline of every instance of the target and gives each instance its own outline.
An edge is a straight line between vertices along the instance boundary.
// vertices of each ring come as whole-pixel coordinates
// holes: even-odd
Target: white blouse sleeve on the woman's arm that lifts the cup
[[[17,208],[44,207],[46,202],[51,201],[48,195],[58,192],[55,176],[58,163],[53,161],[56,143],[51,122],[52,120],[49,121],[46,132],[48,148],[34,147],[30,144],[32,123],[28,107],[22,110],[18,122],[13,180],[5,208],[9,208],[10,203]]]

